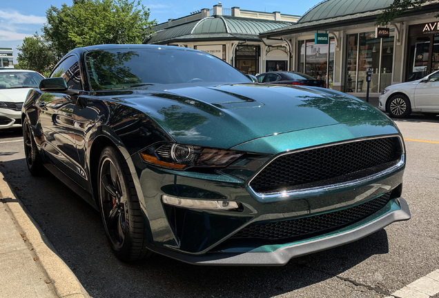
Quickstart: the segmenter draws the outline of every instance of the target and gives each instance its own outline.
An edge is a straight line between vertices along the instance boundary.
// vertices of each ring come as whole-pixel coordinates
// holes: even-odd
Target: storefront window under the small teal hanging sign
[[[315,79],[323,79],[326,81],[328,88],[331,88],[335,40],[333,38],[329,39],[329,44],[315,44],[313,40],[300,41],[299,47],[299,72],[309,74]]]

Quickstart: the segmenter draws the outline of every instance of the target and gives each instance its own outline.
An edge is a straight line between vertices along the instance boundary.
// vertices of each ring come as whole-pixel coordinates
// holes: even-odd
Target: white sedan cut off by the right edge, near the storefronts
[[[439,113],[439,70],[422,79],[385,88],[378,108],[395,118],[407,117],[411,112]]]

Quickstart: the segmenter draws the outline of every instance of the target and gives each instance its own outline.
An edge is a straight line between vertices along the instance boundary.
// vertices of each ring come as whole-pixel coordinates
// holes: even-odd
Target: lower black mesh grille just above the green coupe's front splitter
[[[302,239],[322,235],[349,226],[372,215],[386,206],[390,199],[391,192],[388,192],[371,201],[343,210],[286,221],[251,224],[237,232],[232,238],[279,240]]]

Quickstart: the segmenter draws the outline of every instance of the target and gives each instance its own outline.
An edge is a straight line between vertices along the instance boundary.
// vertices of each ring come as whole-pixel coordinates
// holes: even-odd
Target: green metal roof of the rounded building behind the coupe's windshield
[[[261,32],[276,30],[291,25],[285,21],[244,19],[240,17],[215,16],[180,26],[158,31],[148,43],[170,43],[175,41],[203,39],[260,40]]]

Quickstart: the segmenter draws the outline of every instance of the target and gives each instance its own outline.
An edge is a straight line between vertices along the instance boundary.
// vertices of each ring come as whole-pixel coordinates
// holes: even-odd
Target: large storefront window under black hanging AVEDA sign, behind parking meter
[[[347,36],[346,92],[367,92],[366,72],[371,68],[369,92],[380,92],[391,85],[393,30],[390,37],[376,39],[375,32]]]

